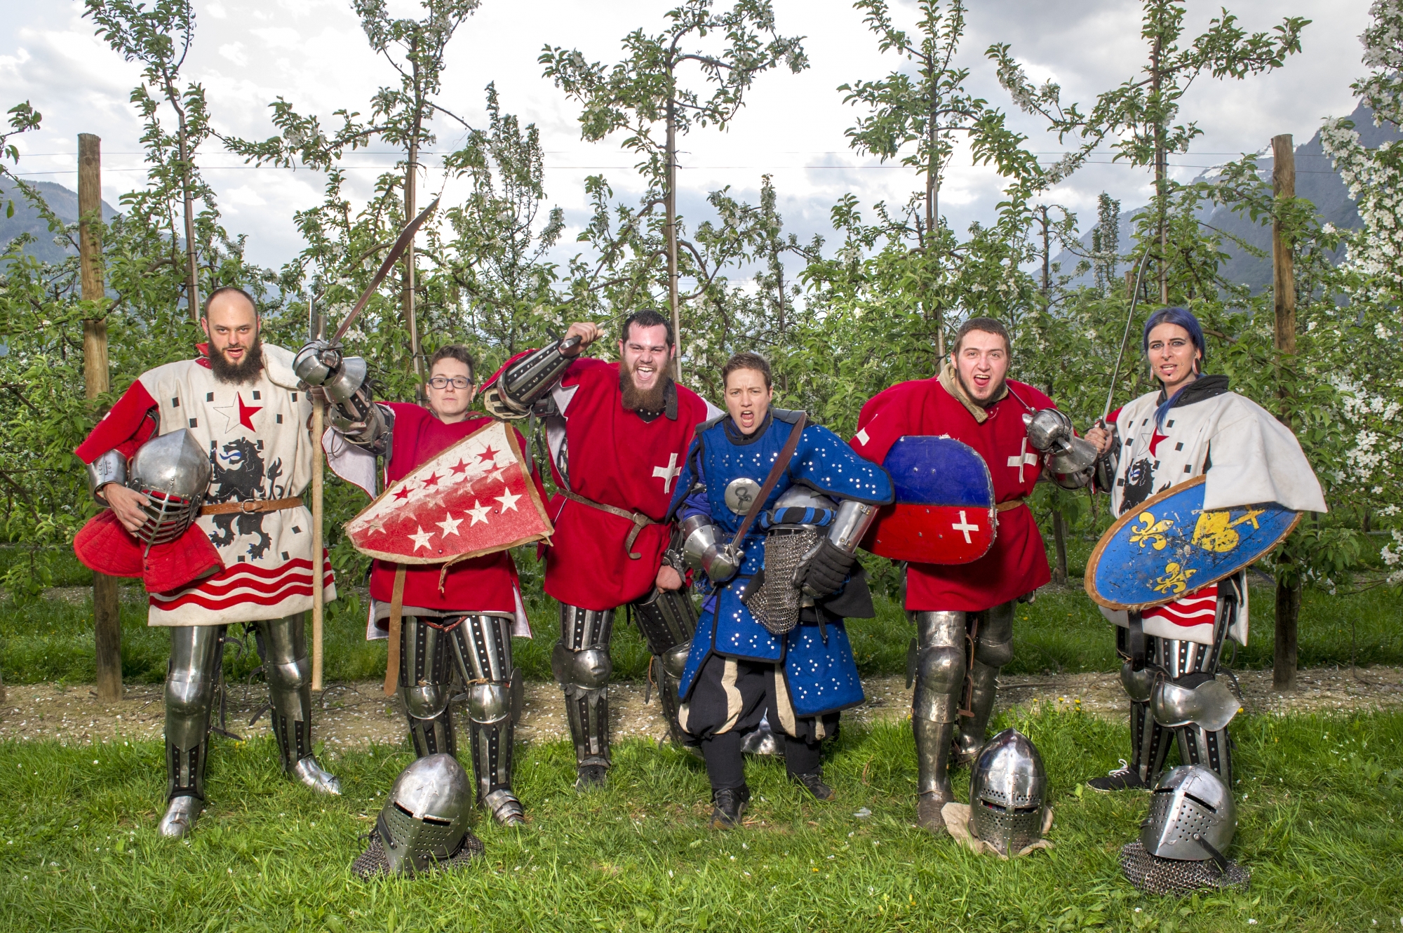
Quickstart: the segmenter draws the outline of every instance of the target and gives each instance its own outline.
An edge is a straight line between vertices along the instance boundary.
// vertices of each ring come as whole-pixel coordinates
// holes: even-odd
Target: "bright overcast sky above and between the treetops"
[[[455,36],[445,73],[445,105],[474,125],[485,123],[483,88],[495,81],[502,108],[522,122],[535,122],[546,149],[550,203],[567,212],[572,239],[586,216],[584,180],[605,174],[620,195],[640,189],[630,166],[634,159],[617,140],[584,143],[578,108],[536,63],[543,45],[574,46],[592,60],[613,62],[620,39],[643,27],[658,31],[669,3],[610,0],[484,0]],[[731,185],[756,199],[760,175],[769,173],[780,195],[786,224],[801,237],[826,233],[828,212],[846,192],[863,205],[902,202],[919,187],[913,171],[880,166],[847,149],[843,130],[857,111],[843,105],[835,88],[845,81],[871,80],[901,62],[877,52],[861,17],[840,0],[776,0],[779,28],[803,35],[811,67],[762,76],[745,109],[728,132],[699,129],[680,147],[682,210],[703,215],[706,192]],[[892,3],[901,21],[913,20],[913,4]],[[1139,4],[1128,0],[976,0],[971,4],[964,60],[972,69],[969,90],[991,104],[1009,107],[1007,95],[984,59],[992,42],[1009,42],[1041,81],[1054,79],[1063,100],[1090,102],[1099,91],[1125,80],[1141,67],[1145,43],[1139,38]],[[1201,31],[1222,6],[1193,0],[1188,24]],[[1280,72],[1244,81],[1202,77],[1183,105],[1204,135],[1187,156],[1173,163],[1183,177],[1226,161],[1237,153],[1266,147],[1275,133],[1309,139],[1326,116],[1354,109],[1350,83],[1362,74],[1358,35],[1368,21],[1368,0],[1244,0],[1232,10],[1247,29],[1267,29],[1285,15],[1313,20],[1303,35],[1303,53]],[[391,0],[397,15],[414,15],[418,3]],[[282,95],[324,125],[340,108],[368,111],[369,97],[396,80],[389,65],[366,45],[349,0],[196,0],[195,46],[185,65],[187,79],[201,81],[213,121],[224,133],[244,137],[272,135],[268,102]],[[76,136],[102,137],[102,192],[116,205],[119,195],[142,182],[140,123],[128,102],[139,81],[137,69],[94,36],[80,15],[81,3],[69,0],[0,0],[0,108],[29,100],[43,114],[43,129],[17,140],[20,173],[34,180],[76,187]],[[1061,152],[1031,118],[1013,118],[1033,139],[1033,147],[1052,161]],[[439,152],[462,139],[462,129],[438,123]],[[355,160],[351,194],[363,198],[377,168],[394,156],[375,147]],[[1099,157],[1108,163],[1110,156]],[[427,160],[434,164],[434,160]],[[292,212],[320,201],[323,177],[310,170],[253,168],[206,146],[199,156],[213,184],[224,223],[248,234],[250,258],[278,265],[300,248]],[[1078,210],[1083,230],[1094,223],[1096,196],[1108,191],[1125,208],[1143,203],[1149,191],[1143,170],[1122,164],[1092,164],[1052,192],[1052,199]],[[436,189],[431,167],[424,189]],[[449,189],[452,196],[452,188]],[[957,160],[941,192],[948,222],[964,229],[971,220],[993,216],[999,180],[988,168]],[[575,247],[571,244],[570,251]]]

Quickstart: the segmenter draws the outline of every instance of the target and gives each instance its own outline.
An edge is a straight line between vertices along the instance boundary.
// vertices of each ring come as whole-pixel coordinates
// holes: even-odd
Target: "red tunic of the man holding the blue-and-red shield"
[[[939,379],[916,379],[874,396],[857,418],[857,453],[881,463],[904,435],[948,435],[968,443],[993,476],[995,502],[1031,495],[1042,460],[1028,446],[1023,414],[1051,408],[1052,400],[1021,382],[988,408],[979,424]],[[1021,401],[1020,401],[1021,400]],[[1027,404],[1024,404],[1027,403]],[[971,564],[911,564],[906,609],[912,612],[979,612],[1030,593],[1051,579],[1042,535],[1033,511],[999,512],[999,532],[989,553]]]

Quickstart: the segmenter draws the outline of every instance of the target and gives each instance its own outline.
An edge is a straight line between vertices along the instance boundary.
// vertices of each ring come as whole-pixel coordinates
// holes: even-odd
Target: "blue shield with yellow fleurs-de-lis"
[[[1086,592],[1107,609],[1143,610],[1232,577],[1264,557],[1301,514],[1257,502],[1204,508],[1198,476],[1121,515],[1086,564]]]

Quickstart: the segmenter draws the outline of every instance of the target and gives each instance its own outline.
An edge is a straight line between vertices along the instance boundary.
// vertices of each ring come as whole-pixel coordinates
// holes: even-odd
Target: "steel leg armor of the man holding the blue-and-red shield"
[[[1013,606],[915,613],[916,817],[930,832],[944,832],[940,810],[954,800],[951,755],[957,763],[972,760],[984,746],[999,669],[1013,657]]]

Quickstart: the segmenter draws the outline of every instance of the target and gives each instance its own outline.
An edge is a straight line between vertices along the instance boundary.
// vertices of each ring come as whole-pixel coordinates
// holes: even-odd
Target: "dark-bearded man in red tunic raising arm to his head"
[[[668,318],[631,314],[616,363],[579,355],[600,334],[595,324],[571,324],[558,345],[513,356],[483,390],[498,417],[544,418],[561,490],[549,506],[556,533],[546,551],[546,592],[561,603],[551,669],[565,692],[579,790],[602,784],[609,769],[609,640],[619,606],[633,606],[668,728],[682,741],[678,680],[696,610],[675,589],[676,571],[662,565],[665,516],[696,427],[720,414],[668,375],[676,356]],[[673,589],[658,589],[659,575]]]

